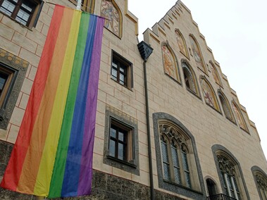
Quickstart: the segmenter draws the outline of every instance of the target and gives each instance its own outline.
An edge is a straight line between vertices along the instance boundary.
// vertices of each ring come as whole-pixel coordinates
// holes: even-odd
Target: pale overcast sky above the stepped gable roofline
[[[139,18],[139,41],[174,6],[176,0],[128,0]],[[256,123],[267,157],[267,1],[183,0],[213,56],[237,92],[249,119]],[[249,144],[248,144],[249,145]]]

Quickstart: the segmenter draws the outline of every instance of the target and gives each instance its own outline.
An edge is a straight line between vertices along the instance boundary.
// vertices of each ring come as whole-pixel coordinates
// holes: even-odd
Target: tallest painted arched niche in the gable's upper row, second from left
[[[200,68],[204,73],[206,73],[206,67],[204,64],[203,56],[199,48],[199,44],[197,43],[197,39],[195,39],[193,35],[190,35],[190,42],[194,54],[194,60],[197,63],[197,67]]]

